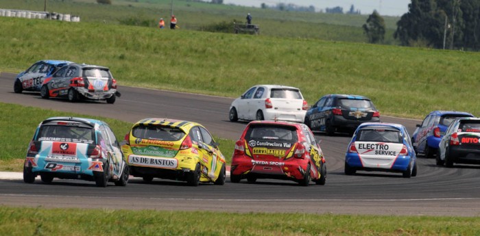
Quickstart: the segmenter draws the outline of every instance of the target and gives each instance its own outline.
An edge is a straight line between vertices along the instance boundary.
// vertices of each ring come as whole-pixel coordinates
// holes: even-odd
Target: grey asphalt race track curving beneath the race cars
[[[192,120],[204,124],[213,134],[232,140],[240,136],[247,124],[228,121],[230,98],[119,87],[122,96],[114,105],[69,103],[62,99],[41,99],[37,93],[14,94],[14,76],[0,74],[0,102],[128,122],[148,117]],[[418,120],[381,118],[383,122],[404,124],[410,133],[415,124],[420,123]],[[140,179],[130,179],[127,187],[110,183],[106,188],[99,188],[86,181],[55,179],[51,184],[41,181],[25,184],[21,180],[0,180],[0,204],[183,211],[480,215],[480,166],[443,168],[435,166],[435,159],[419,157],[418,176],[411,179],[402,178],[400,173],[384,172],[357,172],[354,176],[346,176],[344,156],[350,137],[328,137],[323,133],[316,133],[316,136],[322,140],[327,160],[324,186],[311,182],[309,187],[301,187],[290,181],[259,179],[256,183],[234,184],[227,180],[224,186],[189,187],[176,181],[154,179],[152,184],[146,184]]]

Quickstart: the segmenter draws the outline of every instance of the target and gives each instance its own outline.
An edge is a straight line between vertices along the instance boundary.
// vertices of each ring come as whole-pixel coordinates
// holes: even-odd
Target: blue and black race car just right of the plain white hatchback
[[[380,113],[365,96],[328,94],[311,106],[304,122],[327,135],[337,131],[353,133],[363,122],[380,122]]]

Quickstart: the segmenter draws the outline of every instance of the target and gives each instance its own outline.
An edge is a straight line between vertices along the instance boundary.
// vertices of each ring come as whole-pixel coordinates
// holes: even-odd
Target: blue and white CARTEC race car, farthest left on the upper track
[[[55,73],[58,68],[72,63],[73,62],[60,60],[41,60],[35,62],[27,70],[22,71],[16,76],[13,91],[17,94],[24,90],[38,92],[40,91],[40,86],[42,86],[43,79]]]

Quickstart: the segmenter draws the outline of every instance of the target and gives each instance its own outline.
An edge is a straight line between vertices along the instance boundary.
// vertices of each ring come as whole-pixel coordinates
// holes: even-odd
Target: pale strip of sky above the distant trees
[[[410,0],[224,0],[224,4],[233,3],[235,5],[254,6],[260,8],[262,3],[267,5],[276,5],[278,3],[293,3],[295,5],[310,6],[315,10],[325,10],[325,8],[335,8],[337,6],[344,8],[344,12],[350,10],[353,5],[355,10],[360,10],[361,14],[372,14],[373,10],[383,16],[401,16],[408,12]]]

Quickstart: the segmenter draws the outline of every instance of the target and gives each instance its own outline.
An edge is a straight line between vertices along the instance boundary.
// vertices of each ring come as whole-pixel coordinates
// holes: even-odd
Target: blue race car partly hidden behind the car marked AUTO
[[[453,120],[461,117],[475,117],[467,112],[433,111],[424,118],[422,124],[417,124],[417,129],[411,136],[416,154],[423,153],[427,158],[437,155],[438,144]]]

